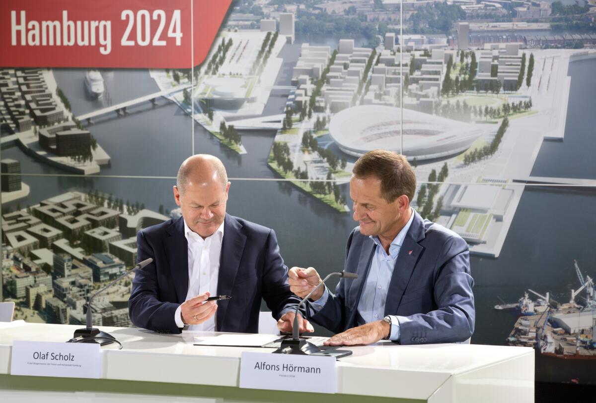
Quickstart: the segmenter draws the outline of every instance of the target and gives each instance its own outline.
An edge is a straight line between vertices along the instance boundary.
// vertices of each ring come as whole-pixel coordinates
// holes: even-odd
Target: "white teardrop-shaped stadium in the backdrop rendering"
[[[360,105],[331,118],[329,132],[339,148],[359,157],[370,150],[399,152],[399,108]],[[403,109],[403,155],[409,160],[441,158],[460,153],[485,133],[482,125]]]

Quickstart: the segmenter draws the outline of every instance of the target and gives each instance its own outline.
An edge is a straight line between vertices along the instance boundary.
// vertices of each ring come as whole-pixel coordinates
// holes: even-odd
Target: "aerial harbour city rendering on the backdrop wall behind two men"
[[[472,342],[534,347],[537,380],[596,383],[596,2],[232,7],[194,68],[0,69],[15,319],[84,323],[136,232],[180,215],[194,153],[222,159],[228,212],[274,228],[288,266],[342,270],[353,163],[387,149],[415,168],[412,206],[469,245]],[[132,326],[130,284],[95,298],[95,325]]]

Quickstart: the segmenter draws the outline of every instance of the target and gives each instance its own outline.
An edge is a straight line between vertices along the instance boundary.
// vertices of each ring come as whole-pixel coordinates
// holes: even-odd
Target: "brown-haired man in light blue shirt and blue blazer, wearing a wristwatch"
[[[321,286],[309,319],[336,333],[326,344],[458,342],[474,331],[468,247],[455,232],[423,220],[410,201],[416,179],[405,157],[374,150],[350,180],[353,218],[346,272],[336,293]],[[290,290],[303,298],[321,282],[312,267],[293,267]]]

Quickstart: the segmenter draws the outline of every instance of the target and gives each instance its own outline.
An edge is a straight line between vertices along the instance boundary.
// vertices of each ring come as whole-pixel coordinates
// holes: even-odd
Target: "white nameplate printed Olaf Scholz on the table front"
[[[100,378],[101,346],[96,343],[14,341],[13,375]]]

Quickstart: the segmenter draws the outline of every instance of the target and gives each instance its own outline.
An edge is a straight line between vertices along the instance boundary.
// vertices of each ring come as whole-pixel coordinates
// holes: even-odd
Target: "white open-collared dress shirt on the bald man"
[[[222,225],[212,235],[203,239],[184,221],[184,236],[188,241],[188,292],[185,301],[207,291],[211,295],[216,295],[218,292],[219,256],[224,239],[224,223],[222,222]],[[184,328],[180,312],[181,307],[178,306],[174,320],[179,328]],[[188,330],[215,332],[215,317],[216,315],[213,315],[200,325],[188,326]]]

